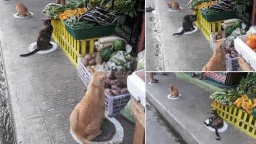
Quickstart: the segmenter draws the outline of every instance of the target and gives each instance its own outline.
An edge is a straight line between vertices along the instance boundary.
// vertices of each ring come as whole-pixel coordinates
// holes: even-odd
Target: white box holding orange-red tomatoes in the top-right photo
[[[238,36],[234,40],[234,48],[238,52],[238,54],[242,55],[242,57],[251,65],[253,69],[256,69],[256,52],[254,52],[247,44],[245,43],[248,39],[247,35]]]

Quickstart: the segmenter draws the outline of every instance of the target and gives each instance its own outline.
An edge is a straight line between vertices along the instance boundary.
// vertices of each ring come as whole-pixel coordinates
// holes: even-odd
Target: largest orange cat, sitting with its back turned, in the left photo
[[[104,85],[103,72],[94,71],[88,67],[92,79],[88,85],[86,95],[75,106],[70,115],[70,133],[73,138],[82,144],[92,143],[98,135],[104,118]]]

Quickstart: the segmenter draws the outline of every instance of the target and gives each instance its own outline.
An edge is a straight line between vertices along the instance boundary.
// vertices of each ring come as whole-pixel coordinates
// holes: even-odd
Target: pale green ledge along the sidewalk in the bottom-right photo
[[[222,89],[220,87],[216,87],[215,85],[212,85],[210,83],[207,83],[205,81],[195,79],[191,77],[190,75],[187,75],[186,73],[175,73],[175,75],[179,79],[183,79],[185,81],[189,81],[190,83],[193,83],[195,85],[198,85],[199,87],[202,87],[203,89],[210,91],[210,92],[220,92]]]

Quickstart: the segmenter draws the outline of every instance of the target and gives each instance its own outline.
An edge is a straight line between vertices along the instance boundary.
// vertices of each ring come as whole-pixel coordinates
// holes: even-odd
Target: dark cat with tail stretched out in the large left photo
[[[39,50],[47,50],[53,46],[53,44],[50,43],[51,36],[53,33],[53,26],[51,25],[51,20],[43,20],[43,21],[44,21],[45,28],[39,32],[39,35],[38,35],[38,38],[36,41],[37,48],[35,50],[33,50],[32,52],[29,52],[24,55],[20,55],[20,57],[30,56],[30,55],[35,54]]]

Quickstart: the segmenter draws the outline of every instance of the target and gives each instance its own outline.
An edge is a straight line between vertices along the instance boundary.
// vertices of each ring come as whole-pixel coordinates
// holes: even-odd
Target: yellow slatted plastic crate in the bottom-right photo
[[[256,118],[253,118],[252,114],[248,114],[241,108],[224,106],[218,102],[212,102],[212,108],[216,109],[220,117],[226,122],[256,139]]]

